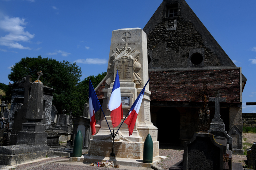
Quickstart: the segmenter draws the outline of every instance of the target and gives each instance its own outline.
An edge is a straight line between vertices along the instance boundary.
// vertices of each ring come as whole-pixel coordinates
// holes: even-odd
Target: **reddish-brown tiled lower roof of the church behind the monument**
[[[149,71],[151,78],[149,89],[152,101],[201,102],[199,92],[203,90],[203,81],[208,80],[207,88],[214,97],[219,90],[228,103],[240,102],[239,69],[221,70],[170,70]],[[98,98],[103,97],[105,81],[96,90]]]

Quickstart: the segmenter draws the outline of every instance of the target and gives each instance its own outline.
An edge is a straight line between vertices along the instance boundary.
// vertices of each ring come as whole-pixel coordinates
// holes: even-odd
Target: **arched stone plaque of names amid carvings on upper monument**
[[[119,80],[133,80],[133,60],[121,58],[115,62],[115,76],[118,69]]]

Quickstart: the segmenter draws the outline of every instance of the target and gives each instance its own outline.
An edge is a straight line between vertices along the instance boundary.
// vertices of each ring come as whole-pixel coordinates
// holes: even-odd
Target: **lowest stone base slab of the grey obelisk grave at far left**
[[[31,152],[31,153],[22,153],[17,155],[4,155],[0,154],[0,165],[16,165],[25,162],[29,162],[35,159],[45,158],[47,155],[52,156],[53,151],[38,151],[38,152]]]

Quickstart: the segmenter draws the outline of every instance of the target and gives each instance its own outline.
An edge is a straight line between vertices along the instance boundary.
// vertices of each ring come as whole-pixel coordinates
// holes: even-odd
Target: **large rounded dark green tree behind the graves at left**
[[[43,72],[40,81],[44,86],[54,88],[53,104],[58,111],[65,108],[68,112],[72,110],[73,92],[79,84],[81,68],[76,63],[68,61],[59,62],[52,58],[22,58],[15,63],[8,75],[8,79],[14,83],[22,80],[26,75],[32,76],[32,82],[37,80],[38,71]]]

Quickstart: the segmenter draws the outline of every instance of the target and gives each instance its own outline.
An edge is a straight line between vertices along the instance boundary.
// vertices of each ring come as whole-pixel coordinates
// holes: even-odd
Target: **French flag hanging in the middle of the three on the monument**
[[[123,119],[123,108],[121,102],[121,90],[120,90],[120,82],[119,82],[119,75],[118,70],[116,71],[116,78],[113,85],[113,89],[111,92],[111,96],[109,99],[109,106],[110,109],[110,117],[112,121],[113,128],[119,125],[121,119]]]

